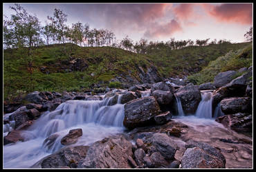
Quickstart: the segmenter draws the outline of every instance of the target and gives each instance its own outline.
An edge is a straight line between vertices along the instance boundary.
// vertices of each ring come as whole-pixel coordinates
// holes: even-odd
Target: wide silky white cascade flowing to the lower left
[[[111,97],[113,98],[113,97]],[[55,111],[47,111],[26,131],[21,131],[24,142],[7,144],[3,147],[4,168],[28,168],[46,155],[64,147],[60,140],[71,129],[82,129],[82,136],[73,145],[89,145],[112,134],[122,133],[124,105],[108,106],[111,98],[104,100],[68,100]],[[5,131],[8,132],[6,126]],[[3,133],[5,136],[6,133]],[[51,144],[49,136],[55,137]]]

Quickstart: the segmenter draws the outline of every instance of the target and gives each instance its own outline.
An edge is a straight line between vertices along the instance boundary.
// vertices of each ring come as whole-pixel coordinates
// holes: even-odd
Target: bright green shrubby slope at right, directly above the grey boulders
[[[188,76],[190,82],[200,85],[202,83],[212,82],[214,76],[219,72],[228,70],[237,70],[241,67],[250,67],[253,65],[252,44],[237,51],[230,50],[224,56],[219,56],[215,61],[211,61],[201,72]],[[243,72],[238,72],[234,78],[241,76]]]

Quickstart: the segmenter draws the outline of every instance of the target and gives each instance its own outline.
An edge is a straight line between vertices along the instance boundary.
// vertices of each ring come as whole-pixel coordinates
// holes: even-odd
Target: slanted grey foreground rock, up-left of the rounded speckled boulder
[[[156,147],[156,150],[163,155],[166,160],[173,160],[177,150],[176,143],[165,133],[154,133],[152,137],[146,141],[148,144]]]

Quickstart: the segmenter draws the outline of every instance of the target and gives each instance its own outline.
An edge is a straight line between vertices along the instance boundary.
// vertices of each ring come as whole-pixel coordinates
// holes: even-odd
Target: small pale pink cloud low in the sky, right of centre
[[[149,28],[144,36],[148,39],[172,36],[174,32],[182,31],[181,25],[174,19],[166,24],[154,23],[154,27]]]

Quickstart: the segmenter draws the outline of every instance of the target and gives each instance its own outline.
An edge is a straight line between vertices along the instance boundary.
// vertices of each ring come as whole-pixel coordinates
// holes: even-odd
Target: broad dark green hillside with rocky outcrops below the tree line
[[[80,47],[66,43],[37,47],[32,59],[27,58],[26,50],[4,50],[4,99],[23,91],[84,92],[92,87],[129,87],[188,76],[230,50],[237,51],[249,44],[164,48],[136,54],[115,47]],[[32,67],[28,67],[28,61],[32,61]]]

